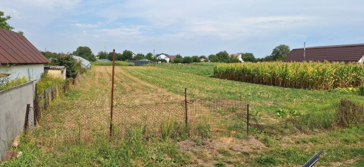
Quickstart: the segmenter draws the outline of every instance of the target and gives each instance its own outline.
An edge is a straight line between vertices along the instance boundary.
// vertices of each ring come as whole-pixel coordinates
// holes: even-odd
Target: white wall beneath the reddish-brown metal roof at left
[[[10,74],[9,79],[27,77],[39,80],[44,73],[44,64],[2,65],[0,73]]]

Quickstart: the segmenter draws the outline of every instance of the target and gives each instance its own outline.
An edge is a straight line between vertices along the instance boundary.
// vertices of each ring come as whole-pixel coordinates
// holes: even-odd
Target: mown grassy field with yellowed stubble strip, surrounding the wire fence
[[[362,124],[350,128],[335,124],[341,98],[362,103],[364,97],[201,75],[211,69],[212,65],[116,67],[116,130],[110,141],[106,136],[111,67],[94,66],[80,85],[51,105],[40,126],[22,137],[21,146],[15,150],[22,151],[23,156],[3,165],[300,166],[318,150],[323,150],[319,166],[364,165]],[[170,108],[158,106],[168,103],[175,105],[172,108],[180,107],[174,102],[183,102],[185,87],[189,99],[243,97],[251,105],[255,121],[275,128],[253,128],[246,136],[240,126],[224,135],[200,127],[195,130],[201,133],[187,137],[191,129],[180,124],[183,113],[166,116],[171,114]],[[135,117],[140,110],[150,114],[138,113],[144,116]],[[154,123],[148,127],[155,128],[121,130],[133,123]],[[124,137],[118,137],[121,135]]]

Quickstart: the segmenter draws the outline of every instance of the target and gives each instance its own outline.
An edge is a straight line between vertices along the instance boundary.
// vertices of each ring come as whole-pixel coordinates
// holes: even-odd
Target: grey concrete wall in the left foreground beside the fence
[[[0,91],[0,158],[2,160],[13,139],[23,132],[27,104],[33,107],[34,84],[35,82],[32,81]]]

